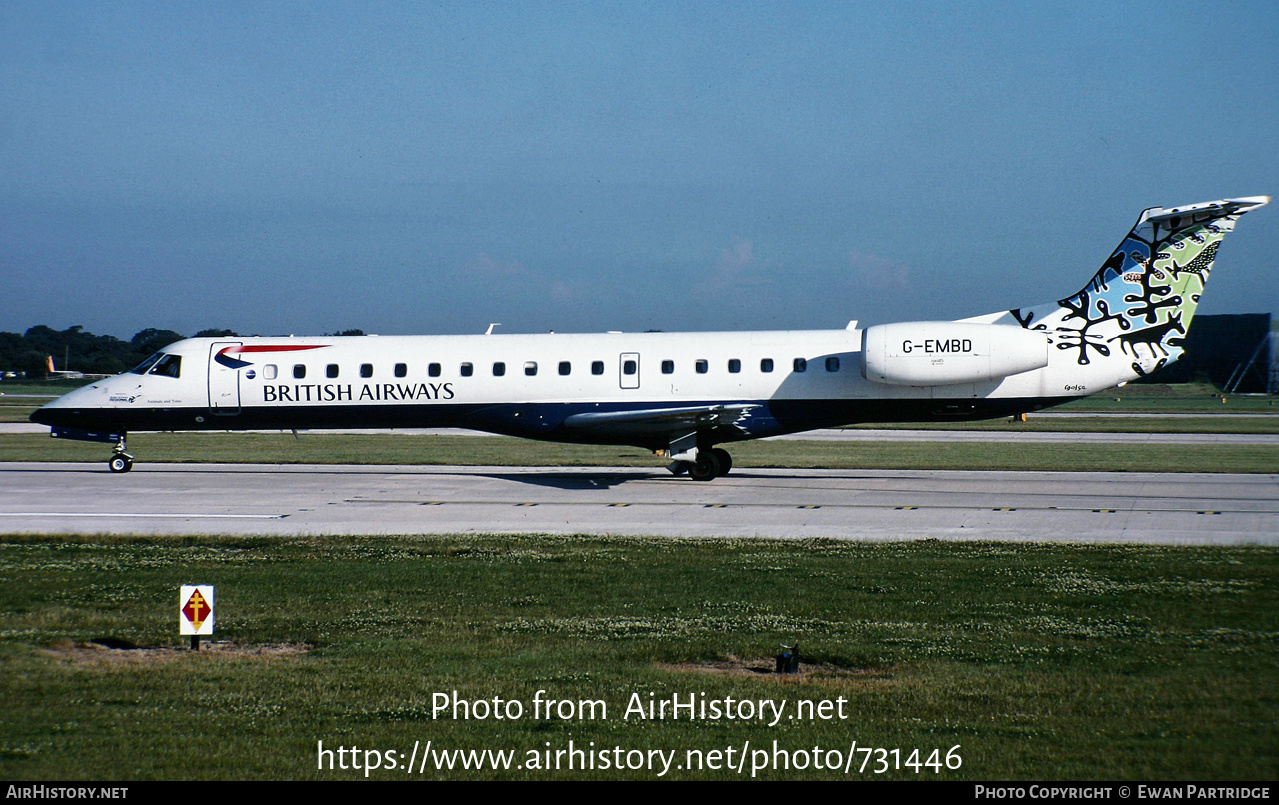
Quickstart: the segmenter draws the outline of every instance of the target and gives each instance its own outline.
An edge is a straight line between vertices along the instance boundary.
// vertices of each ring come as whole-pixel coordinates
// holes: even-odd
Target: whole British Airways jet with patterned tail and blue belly
[[[1175,361],[1218,246],[1269,196],[1151,207],[1078,292],[955,321],[843,330],[191,338],[31,415],[128,431],[467,427],[666,452],[698,481],[723,444],[859,422],[1022,415]]]

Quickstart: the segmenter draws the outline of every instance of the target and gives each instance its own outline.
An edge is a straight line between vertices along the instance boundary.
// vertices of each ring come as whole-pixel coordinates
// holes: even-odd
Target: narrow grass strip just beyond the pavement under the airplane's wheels
[[[1001,444],[998,442],[743,442],[738,467],[863,470],[1045,470],[1123,472],[1275,472],[1279,448],[1233,444]],[[136,434],[129,452],[146,462],[353,463],[663,467],[640,448],[528,442],[486,435],[203,433]],[[0,434],[0,461],[105,462],[110,445]],[[1068,453],[1068,458],[1063,456]]]

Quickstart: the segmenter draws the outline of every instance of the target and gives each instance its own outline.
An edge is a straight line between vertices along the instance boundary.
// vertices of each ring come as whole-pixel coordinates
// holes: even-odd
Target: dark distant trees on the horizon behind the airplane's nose
[[[238,335],[239,333],[234,330],[208,329],[196,333],[192,338]],[[336,335],[363,335],[363,333],[343,330]],[[87,333],[81,325],[55,330],[38,324],[22,335],[0,333],[0,372],[17,372],[28,379],[45,378],[49,356],[52,356],[59,371],[115,375],[133,369],[151,353],[183,338],[187,337],[182,333],[147,328],[129,340],[120,340],[114,335]]]

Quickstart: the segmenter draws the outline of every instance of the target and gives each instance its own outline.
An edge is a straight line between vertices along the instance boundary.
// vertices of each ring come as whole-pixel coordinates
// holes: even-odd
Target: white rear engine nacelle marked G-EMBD
[[[1005,324],[903,321],[862,331],[862,376],[890,385],[952,385],[1048,366],[1048,337]]]

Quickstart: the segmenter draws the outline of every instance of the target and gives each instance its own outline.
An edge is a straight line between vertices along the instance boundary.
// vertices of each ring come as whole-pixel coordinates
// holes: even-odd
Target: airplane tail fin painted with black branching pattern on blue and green
[[[1018,308],[1000,323],[1042,331],[1069,352],[1090,387],[1147,375],[1175,361],[1221,238],[1269,196],[1151,207],[1078,293]]]

